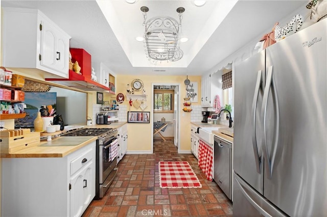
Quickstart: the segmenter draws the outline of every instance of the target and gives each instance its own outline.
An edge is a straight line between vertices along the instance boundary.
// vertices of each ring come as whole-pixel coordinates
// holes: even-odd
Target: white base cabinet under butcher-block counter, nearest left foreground
[[[65,157],[2,158],[2,216],[81,216],[95,197],[96,142]]]

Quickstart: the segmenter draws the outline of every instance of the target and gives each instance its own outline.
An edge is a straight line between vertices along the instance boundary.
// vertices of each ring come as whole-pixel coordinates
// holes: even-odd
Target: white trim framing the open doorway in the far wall
[[[154,95],[153,95],[153,89],[154,86],[177,86],[178,87],[178,102],[177,102],[177,126],[178,126],[178,146],[177,146],[177,150],[180,150],[180,84],[179,83],[152,83],[151,84],[151,96],[153,99]],[[151,120],[150,123],[153,126],[153,117],[154,117],[154,113],[153,113],[153,100],[151,101]],[[151,153],[153,153],[153,127],[151,127]]]

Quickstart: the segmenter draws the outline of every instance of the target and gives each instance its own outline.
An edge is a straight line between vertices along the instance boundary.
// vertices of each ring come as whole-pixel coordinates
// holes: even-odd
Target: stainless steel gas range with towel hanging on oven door
[[[96,196],[99,200],[107,192],[118,171],[117,146],[118,130],[115,128],[82,128],[61,134],[60,136],[98,136],[96,159]]]

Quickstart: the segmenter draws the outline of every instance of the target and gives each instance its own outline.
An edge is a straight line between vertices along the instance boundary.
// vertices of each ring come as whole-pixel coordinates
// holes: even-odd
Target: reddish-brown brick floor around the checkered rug
[[[101,200],[82,216],[231,216],[232,204],[215,182],[205,179],[193,154],[178,154],[172,141],[154,142],[154,154],[126,154]],[[188,161],[201,188],[160,188],[159,161]]]

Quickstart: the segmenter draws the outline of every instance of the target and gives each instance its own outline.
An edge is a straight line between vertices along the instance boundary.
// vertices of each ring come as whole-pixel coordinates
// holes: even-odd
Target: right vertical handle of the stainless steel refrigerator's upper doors
[[[273,144],[273,151],[272,151],[272,156],[271,156],[271,160],[269,158],[269,153],[268,153],[268,146],[267,146],[267,137],[266,137],[266,121],[267,121],[267,104],[268,104],[268,96],[269,96],[269,91],[271,89],[271,94],[273,97],[273,104],[275,107],[275,130],[274,130],[274,144]],[[264,153],[264,158],[266,160],[266,164],[265,164],[265,170],[267,171],[266,175],[267,178],[271,179],[272,177],[272,169],[273,169],[273,165],[274,165],[274,160],[276,157],[276,150],[277,150],[277,146],[278,146],[278,132],[279,132],[279,105],[278,105],[278,97],[277,97],[277,93],[276,93],[276,86],[275,86],[275,79],[273,76],[273,67],[269,66],[268,68],[268,75],[267,75],[267,80],[266,80],[266,87],[265,87],[265,91],[264,91],[264,96],[263,96],[263,100],[262,100],[262,108],[261,108],[261,115],[263,116],[262,120],[262,124],[263,124],[263,140],[262,140],[262,149],[263,149],[263,153]]]

